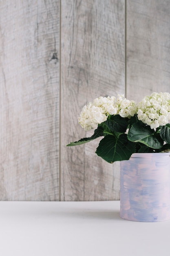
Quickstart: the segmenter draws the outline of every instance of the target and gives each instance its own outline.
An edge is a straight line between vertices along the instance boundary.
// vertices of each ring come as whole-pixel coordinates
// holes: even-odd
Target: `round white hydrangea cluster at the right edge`
[[[170,94],[153,92],[138,103],[137,117],[151,129],[168,124],[170,120]]]

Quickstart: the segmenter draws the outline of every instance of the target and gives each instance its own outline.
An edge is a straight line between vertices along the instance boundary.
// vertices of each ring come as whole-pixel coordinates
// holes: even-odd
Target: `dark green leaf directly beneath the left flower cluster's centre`
[[[111,119],[105,121],[105,124],[112,132],[126,132],[128,121],[120,115],[112,115]]]

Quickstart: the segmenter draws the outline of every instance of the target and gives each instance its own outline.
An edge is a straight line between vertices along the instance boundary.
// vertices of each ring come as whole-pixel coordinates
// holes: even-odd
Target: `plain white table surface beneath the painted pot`
[[[0,202],[2,256],[170,256],[170,221],[119,217],[119,201]]]

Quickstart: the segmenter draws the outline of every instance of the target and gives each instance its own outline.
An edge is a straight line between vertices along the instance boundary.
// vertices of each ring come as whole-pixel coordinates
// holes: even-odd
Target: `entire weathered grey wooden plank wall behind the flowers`
[[[170,92],[168,0],[0,1],[0,200],[118,200],[78,124],[99,96]]]

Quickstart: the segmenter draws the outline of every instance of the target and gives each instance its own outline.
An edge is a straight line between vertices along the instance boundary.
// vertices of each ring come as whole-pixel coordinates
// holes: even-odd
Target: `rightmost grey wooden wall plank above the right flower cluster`
[[[127,2],[127,98],[170,92],[170,1]]]

